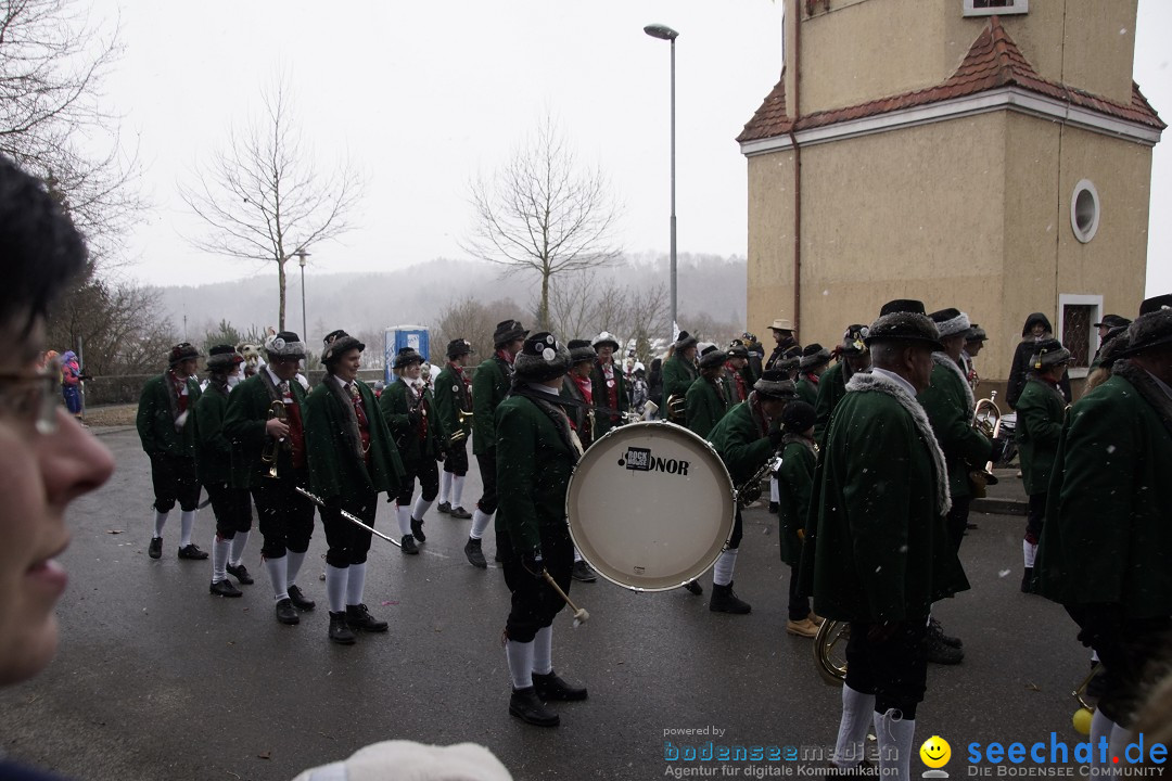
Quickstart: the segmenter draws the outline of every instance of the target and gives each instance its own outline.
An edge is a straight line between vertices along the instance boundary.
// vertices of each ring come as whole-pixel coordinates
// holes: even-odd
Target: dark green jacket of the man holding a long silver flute
[[[369,463],[361,454],[354,403],[333,378],[318,383],[305,400],[309,489],[321,499],[357,498],[383,491],[395,494],[402,484],[403,463],[379,413],[379,399],[364,383],[356,384],[370,436]]]

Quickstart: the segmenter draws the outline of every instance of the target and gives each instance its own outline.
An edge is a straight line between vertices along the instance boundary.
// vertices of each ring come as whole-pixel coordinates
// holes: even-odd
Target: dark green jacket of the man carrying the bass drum
[[[496,431],[498,540],[517,552],[568,544],[566,488],[578,454],[550,416],[523,396],[497,407]]]

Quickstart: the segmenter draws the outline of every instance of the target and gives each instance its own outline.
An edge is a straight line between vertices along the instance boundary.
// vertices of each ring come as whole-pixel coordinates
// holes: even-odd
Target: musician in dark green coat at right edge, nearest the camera
[[[1067,416],[1034,570],[1038,592],[1067,608],[1102,660],[1090,738],[1106,738],[1109,758],[1132,741],[1151,663],[1172,642],[1172,296],[1164,299],[1164,308],[1144,302],[1111,378]]]

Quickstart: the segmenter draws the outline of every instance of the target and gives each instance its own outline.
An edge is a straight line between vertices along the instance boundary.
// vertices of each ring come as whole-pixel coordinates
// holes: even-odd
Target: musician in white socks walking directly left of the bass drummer
[[[481,470],[484,486],[481,501],[472,511],[472,529],[464,543],[464,556],[472,567],[485,569],[489,563],[481,549],[481,537],[497,512],[497,406],[509,395],[513,358],[520,352],[529,331],[516,320],[497,323],[492,334],[496,352],[477,366],[472,376],[472,454]]]

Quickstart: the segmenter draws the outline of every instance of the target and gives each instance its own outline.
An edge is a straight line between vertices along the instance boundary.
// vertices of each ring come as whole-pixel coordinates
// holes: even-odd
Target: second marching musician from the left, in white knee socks
[[[229,393],[240,382],[244,356],[231,344],[217,344],[207,351],[207,389],[196,402],[196,468],[207,489],[216,514],[212,540],[212,582],[214,596],[238,597],[240,589],[227,580],[232,575],[245,584],[253,582],[244,566],[244,547],[252,530],[252,500],[247,488],[229,485],[232,472],[232,443],[224,436],[224,413]]]

